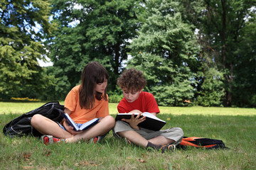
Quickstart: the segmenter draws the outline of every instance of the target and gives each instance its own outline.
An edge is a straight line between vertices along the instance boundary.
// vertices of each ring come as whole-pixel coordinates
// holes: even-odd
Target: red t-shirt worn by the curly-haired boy
[[[142,113],[149,112],[149,113],[159,113],[159,107],[156,103],[156,99],[154,98],[153,94],[149,92],[142,91],[139,94],[139,98],[129,103],[125,98],[119,102],[117,106],[117,110],[119,113],[129,113],[133,110],[139,110]]]

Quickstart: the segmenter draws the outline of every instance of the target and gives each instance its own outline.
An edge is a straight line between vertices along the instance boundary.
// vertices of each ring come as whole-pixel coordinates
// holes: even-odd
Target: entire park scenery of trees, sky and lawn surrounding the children
[[[112,116],[122,98],[117,77],[134,67],[144,72],[144,91],[154,94],[164,128],[223,140],[229,149],[161,154],[112,132],[97,144],[46,146],[1,132],[0,169],[256,169],[255,6],[255,0],[1,0],[1,130],[46,101],[63,104],[85,65],[98,61],[110,73]]]

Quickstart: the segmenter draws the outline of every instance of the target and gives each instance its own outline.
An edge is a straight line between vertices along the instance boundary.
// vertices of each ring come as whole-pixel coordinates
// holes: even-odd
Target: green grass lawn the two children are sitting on
[[[60,102],[63,104],[63,102]],[[0,128],[38,103],[0,102]],[[100,143],[43,145],[35,137],[9,138],[0,133],[0,169],[256,169],[256,109],[159,107],[164,128],[180,127],[186,136],[223,140],[230,149],[177,149],[149,152],[127,145],[110,132]],[[117,114],[117,103],[110,103]]]

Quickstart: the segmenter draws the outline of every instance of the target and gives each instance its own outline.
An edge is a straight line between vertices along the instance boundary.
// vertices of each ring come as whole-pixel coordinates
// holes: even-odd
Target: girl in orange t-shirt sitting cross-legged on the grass
[[[62,123],[55,123],[43,115],[33,115],[31,125],[41,132],[43,142],[77,142],[79,140],[97,140],[114,127],[114,118],[109,113],[107,96],[107,70],[98,62],[90,62],[82,71],[81,84],[75,86],[65,98],[65,113],[75,123],[81,125],[93,118],[100,118],[99,123],[87,130],[77,132],[68,125],[65,118]]]

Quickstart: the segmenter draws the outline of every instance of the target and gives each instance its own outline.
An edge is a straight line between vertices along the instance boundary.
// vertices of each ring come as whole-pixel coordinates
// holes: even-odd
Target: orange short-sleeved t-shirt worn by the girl
[[[110,115],[108,108],[108,100],[102,99],[98,101],[95,98],[95,104],[91,109],[81,108],[79,104],[79,87],[75,86],[65,98],[65,108],[71,111],[70,118],[75,123],[86,123],[94,118],[105,117]],[[108,98],[107,98],[108,99]]]

